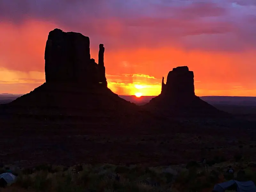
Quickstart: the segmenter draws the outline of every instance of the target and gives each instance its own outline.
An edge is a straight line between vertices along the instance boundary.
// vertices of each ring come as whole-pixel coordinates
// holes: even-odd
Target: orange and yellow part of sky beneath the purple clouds
[[[96,24],[97,22],[92,26],[97,28]],[[220,28],[229,30],[228,25],[225,26],[224,29],[221,24]],[[127,37],[120,20],[108,20],[103,27],[99,30],[104,30],[106,37],[98,38],[97,34],[91,36],[93,31],[86,30],[83,26],[73,30],[72,26],[52,20],[28,17],[21,23],[8,20],[0,22],[0,93],[28,93],[44,83],[44,48],[47,36],[54,28],[61,28],[89,36],[91,56],[96,61],[98,46],[100,43],[104,44],[108,87],[117,94],[134,95],[140,92],[142,95],[158,95],[162,76],[166,81],[172,68],[187,65],[194,71],[198,96],[256,96],[255,48],[250,44],[243,43],[246,48],[239,51],[228,50],[224,45],[221,45],[222,50],[218,50],[218,44],[225,41],[224,37],[220,36],[218,42],[215,37],[199,38],[195,35],[188,38],[185,35],[176,41],[174,33],[170,33],[173,38],[170,37],[168,42],[159,35],[161,42],[151,44],[148,39],[156,38],[154,41],[157,43],[157,36],[145,32]],[[199,24],[194,27],[199,27]],[[233,30],[232,26],[231,29]],[[124,42],[120,43],[118,39],[124,39]],[[194,46],[195,42],[200,46]],[[208,47],[209,44],[213,49]],[[229,46],[232,48],[234,45]]]

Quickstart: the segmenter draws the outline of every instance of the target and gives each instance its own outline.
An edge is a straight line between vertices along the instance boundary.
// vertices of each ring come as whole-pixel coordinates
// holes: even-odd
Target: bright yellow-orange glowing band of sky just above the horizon
[[[4,76],[4,80],[6,80],[4,86],[6,86],[6,88],[5,88],[5,91],[1,91],[0,93],[26,94],[26,93],[29,93],[30,91],[33,91],[36,87],[40,86],[45,82],[44,72],[30,71],[27,74],[27,73],[22,73],[20,71],[19,72],[9,71],[7,69],[0,68],[0,77],[3,78],[3,76],[1,76],[2,74],[7,74],[7,76]],[[107,74],[107,77],[108,76],[109,75]],[[132,76],[138,76],[138,75],[133,74]],[[23,77],[23,78],[17,78],[17,77]],[[10,79],[12,79],[13,81],[10,81]],[[162,79],[158,79],[158,80],[162,81]],[[197,96],[254,96],[254,95],[243,94],[244,92],[239,92],[241,94],[236,94],[237,90],[242,89],[239,86],[236,87],[236,89],[226,90],[225,92],[224,90],[220,90],[220,91],[219,90],[200,90],[200,89],[196,89],[196,84],[198,83],[200,83],[200,81],[195,81],[195,93]],[[16,87],[23,88],[24,91],[17,92]],[[139,82],[137,83],[108,82],[108,88],[118,95],[136,96],[136,93],[140,93],[141,96],[157,96],[161,92],[160,83],[152,85],[152,84],[141,84]]]

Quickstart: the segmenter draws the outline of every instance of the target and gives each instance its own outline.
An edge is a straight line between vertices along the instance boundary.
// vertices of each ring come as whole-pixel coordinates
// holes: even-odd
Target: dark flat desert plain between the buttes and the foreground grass
[[[162,166],[237,154],[256,158],[255,122],[245,120],[159,119],[150,124],[116,119],[97,124],[97,119],[85,123],[2,117],[0,123],[0,160],[25,167],[44,163]]]

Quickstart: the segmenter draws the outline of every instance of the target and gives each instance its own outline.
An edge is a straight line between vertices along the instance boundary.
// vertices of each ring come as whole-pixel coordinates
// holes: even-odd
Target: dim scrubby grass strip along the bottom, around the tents
[[[246,173],[245,179],[256,182],[256,174],[248,166],[250,163],[222,162],[208,167],[206,171],[201,166],[186,169],[185,165],[148,168],[139,165],[84,164],[80,166],[83,170],[77,174],[71,174],[75,167],[63,171],[62,166],[51,166],[51,170],[56,172],[50,173],[50,165],[47,165],[41,166],[41,171],[33,174],[22,174],[20,170],[17,182],[1,189],[1,192],[210,192],[216,183],[228,180],[225,176],[228,165],[235,169],[235,177],[242,167]],[[108,177],[116,172],[120,174],[119,182]],[[143,180],[149,183],[145,184]]]

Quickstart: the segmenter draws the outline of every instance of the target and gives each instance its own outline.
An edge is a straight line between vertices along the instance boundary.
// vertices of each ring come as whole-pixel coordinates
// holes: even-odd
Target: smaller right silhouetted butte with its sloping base
[[[166,116],[220,116],[224,112],[195,95],[194,73],[187,66],[173,68],[168,73],[166,84],[162,79],[160,95],[143,108],[163,112]],[[224,114],[225,115],[225,114]]]

